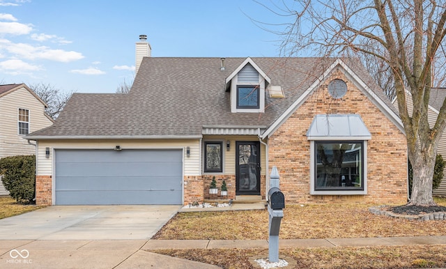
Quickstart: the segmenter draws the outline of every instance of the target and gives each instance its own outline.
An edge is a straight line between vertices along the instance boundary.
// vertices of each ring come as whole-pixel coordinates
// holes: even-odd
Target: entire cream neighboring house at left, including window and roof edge
[[[36,154],[36,144],[26,134],[52,125],[45,114],[47,105],[25,84],[0,85],[0,159],[14,155]],[[0,181],[0,195],[8,192]]]

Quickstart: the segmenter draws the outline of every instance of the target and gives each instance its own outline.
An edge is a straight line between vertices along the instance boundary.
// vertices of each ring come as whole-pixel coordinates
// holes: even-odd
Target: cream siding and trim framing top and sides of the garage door
[[[53,175],[54,149],[112,149],[116,145],[125,149],[150,149],[150,148],[183,148],[184,176],[199,176],[200,173],[200,141],[194,140],[39,140],[37,175]],[[190,147],[190,157],[186,155],[186,148]],[[45,157],[45,148],[49,147],[49,158]]]

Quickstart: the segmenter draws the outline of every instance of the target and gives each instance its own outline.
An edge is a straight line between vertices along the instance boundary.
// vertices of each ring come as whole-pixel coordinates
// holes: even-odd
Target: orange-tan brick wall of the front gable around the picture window
[[[332,79],[347,82],[343,98],[334,100],[327,91]],[[316,114],[359,114],[371,132],[367,144],[367,194],[310,195],[310,141],[307,130]],[[403,133],[366,95],[339,71],[314,91],[301,107],[268,140],[269,164],[280,174],[287,203],[405,203],[407,200],[407,153]]]

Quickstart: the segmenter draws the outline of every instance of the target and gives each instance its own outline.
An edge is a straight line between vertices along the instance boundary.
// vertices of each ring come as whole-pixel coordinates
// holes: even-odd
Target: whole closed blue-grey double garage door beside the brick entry
[[[181,204],[181,150],[56,150],[56,205]]]

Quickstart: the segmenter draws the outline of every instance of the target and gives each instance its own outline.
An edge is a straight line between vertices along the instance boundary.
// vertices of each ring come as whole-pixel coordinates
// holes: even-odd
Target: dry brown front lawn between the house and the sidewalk
[[[446,206],[446,199],[436,199]],[[412,221],[374,215],[371,205],[318,204],[286,206],[282,239],[446,236],[446,221]],[[268,211],[178,213],[156,239],[267,239]]]

